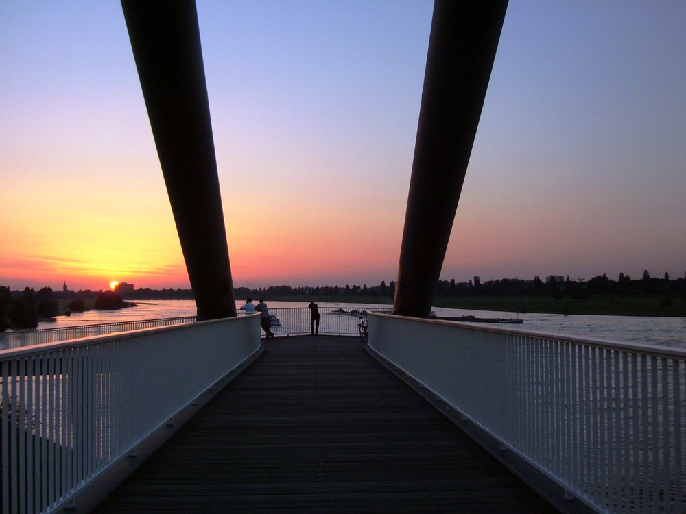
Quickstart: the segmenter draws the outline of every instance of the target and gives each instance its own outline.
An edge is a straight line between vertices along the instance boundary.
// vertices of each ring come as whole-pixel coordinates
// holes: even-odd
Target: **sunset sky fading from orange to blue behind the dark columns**
[[[234,285],[396,279],[428,1],[204,1]],[[508,7],[441,278],[686,271],[686,2]],[[189,287],[119,1],[0,3],[0,285]]]

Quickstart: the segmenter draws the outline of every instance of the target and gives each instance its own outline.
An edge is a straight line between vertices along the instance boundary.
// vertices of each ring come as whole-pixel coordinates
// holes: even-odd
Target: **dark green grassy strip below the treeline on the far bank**
[[[274,297],[271,300],[309,303],[309,297]],[[318,296],[316,302],[392,304],[392,299],[380,296]],[[269,302],[269,300],[268,300]],[[605,316],[671,316],[686,317],[686,302],[672,297],[672,305],[663,305],[659,295],[598,296],[587,300],[556,300],[542,297],[435,297],[434,306],[470,310],[500,310],[507,313],[590,314]]]

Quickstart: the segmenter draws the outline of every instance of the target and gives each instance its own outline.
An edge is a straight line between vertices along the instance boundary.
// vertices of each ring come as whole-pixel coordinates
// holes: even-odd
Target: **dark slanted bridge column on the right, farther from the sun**
[[[507,0],[436,0],[393,313],[427,317],[481,116]]]

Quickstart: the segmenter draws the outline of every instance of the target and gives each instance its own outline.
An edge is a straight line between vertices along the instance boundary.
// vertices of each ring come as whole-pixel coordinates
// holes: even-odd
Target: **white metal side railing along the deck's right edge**
[[[600,512],[686,512],[686,350],[370,316],[372,350]]]

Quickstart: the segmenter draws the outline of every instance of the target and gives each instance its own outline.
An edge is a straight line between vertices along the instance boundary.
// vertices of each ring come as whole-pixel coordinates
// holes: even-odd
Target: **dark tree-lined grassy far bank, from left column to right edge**
[[[263,295],[272,300],[302,302],[303,297],[314,296],[319,302],[352,302],[360,304],[392,304],[394,282],[388,286],[362,288],[358,286],[324,286],[317,288],[291,288],[270,286],[265,289],[237,289],[242,295]],[[237,297],[240,297],[237,294]],[[686,317],[686,276],[670,280],[651,277],[643,272],[639,280],[624,273],[619,280],[598,275],[588,281],[563,280],[543,282],[533,280],[490,280],[484,284],[440,280],[436,284],[435,307],[468,310],[495,310],[508,313],[549,313],[568,315],[605,316],[669,316]]]

